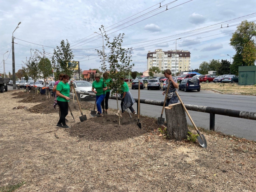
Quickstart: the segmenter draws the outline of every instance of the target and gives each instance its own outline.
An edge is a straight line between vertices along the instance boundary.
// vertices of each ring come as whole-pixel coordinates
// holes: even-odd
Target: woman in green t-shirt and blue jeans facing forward
[[[96,117],[102,116],[100,104],[104,100],[104,97],[106,95],[105,91],[108,89],[106,83],[103,82],[103,80],[100,79],[100,77],[101,77],[100,74],[96,73],[94,75],[95,81],[93,81],[92,83],[92,92],[96,94],[96,105],[97,105],[97,111],[98,111],[98,113],[96,114]]]

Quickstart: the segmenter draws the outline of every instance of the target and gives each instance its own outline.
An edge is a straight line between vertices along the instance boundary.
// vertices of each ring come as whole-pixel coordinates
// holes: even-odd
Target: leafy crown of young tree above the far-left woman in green
[[[63,73],[71,77],[77,64],[75,61],[73,61],[74,54],[70,49],[70,44],[68,43],[68,40],[66,41],[67,44],[65,44],[65,41],[62,40],[60,42],[60,47],[57,46],[57,48],[53,50],[52,64],[54,71],[56,71],[57,75]]]

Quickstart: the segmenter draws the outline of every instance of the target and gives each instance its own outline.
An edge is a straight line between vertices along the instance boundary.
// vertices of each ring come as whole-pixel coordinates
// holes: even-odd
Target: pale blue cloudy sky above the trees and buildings
[[[51,59],[61,40],[68,40],[82,70],[100,68],[95,49],[102,49],[102,36],[94,31],[100,33],[101,25],[110,40],[125,34],[123,48],[133,49],[133,70],[143,72],[148,51],[175,50],[175,39],[177,50],[191,53],[192,69],[203,61],[230,60],[237,25],[256,20],[255,0],[0,0],[0,5],[0,73],[4,59],[6,74],[12,73],[12,33],[19,22],[13,33],[16,72],[31,48],[44,46]]]

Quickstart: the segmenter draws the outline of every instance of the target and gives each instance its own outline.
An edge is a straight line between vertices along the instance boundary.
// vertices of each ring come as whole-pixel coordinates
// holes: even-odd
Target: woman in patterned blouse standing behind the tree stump
[[[168,93],[166,93],[167,87],[165,87],[165,90],[163,92],[163,95],[167,94],[165,106],[168,106],[168,105],[171,105],[171,104],[174,104],[174,103],[178,103],[179,98],[175,93],[175,91],[177,91],[177,93],[178,93],[177,88],[179,87],[179,85],[177,83],[177,79],[172,76],[172,71],[170,69],[166,69],[164,71],[164,76],[166,78],[168,78],[167,81],[166,81],[167,86],[169,84],[169,81],[171,81]]]

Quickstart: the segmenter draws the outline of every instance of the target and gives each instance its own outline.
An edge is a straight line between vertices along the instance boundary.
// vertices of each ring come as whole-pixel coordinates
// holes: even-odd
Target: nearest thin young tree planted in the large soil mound
[[[100,59],[103,60],[105,58],[109,64],[109,66],[105,66],[105,63],[101,64],[102,71],[109,71],[109,78],[113,81],[110,81],[108,84],[111,87],[112,92],[111,95],[116,94],[116,103],[118,110],[118,122],[120,125],[120,111],[118,107],[118,99],[117,96],[122,92],[121,86],[124,84],[124,78],[129,74],[129,71],[132,69],[134,64],[130,65],[132,62],[132,49],[124,49],[122,48],[122,42],[124,38],[124,33],[119,34],[117,37],[114,37],[113,41],[110,42],[108,35],[104,29],[104,26],[101,26],[101,31],[103,30],[105,40],[107,41],[106,46],[108,46],[109,54],[106,55],[101,50],[97,50]],[[109,67],[109,68],[108,68]],[[106,68],[106,69],[105,69]]]

